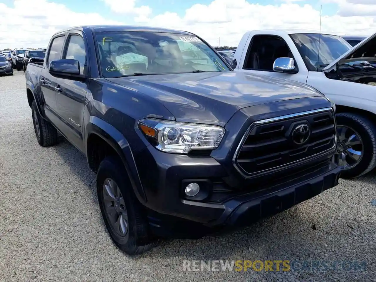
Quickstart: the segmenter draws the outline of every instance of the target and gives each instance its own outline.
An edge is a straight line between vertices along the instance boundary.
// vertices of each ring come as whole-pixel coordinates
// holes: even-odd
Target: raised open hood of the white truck
[[[375,61],[376,60],[376,32],[368,36],[352,49],[344,53],[337,60],[323,68],[323,71],[332,70],[333,66],[338,64],[347,64],[356,61]]]

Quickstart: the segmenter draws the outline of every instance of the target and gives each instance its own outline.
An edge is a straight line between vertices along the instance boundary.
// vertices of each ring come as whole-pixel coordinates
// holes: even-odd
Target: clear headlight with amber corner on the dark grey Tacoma
[[[220,126],[145,119],[139,129],[158,149],[187,154],[191,150],[212,150],[221,143],[225,130]]]

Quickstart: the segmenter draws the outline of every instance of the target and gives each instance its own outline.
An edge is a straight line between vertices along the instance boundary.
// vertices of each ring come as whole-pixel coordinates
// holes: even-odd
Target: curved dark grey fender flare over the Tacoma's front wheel
[[[121,161],[127,171],[129,180],[131,182],[133,191],[137,199],[145,204],[147,202],[146,194],[144,192],[141,180],[139,178],[138,170],[136,167],[135,159],[133,158],[132,150],[129,143],[123,134],[111,124],[102,120],[99,117],[90,116],[89,122],[86,124],[86,158],[88,158],[88,137],[91,133],[96,134],[107,142],[120,156]]]

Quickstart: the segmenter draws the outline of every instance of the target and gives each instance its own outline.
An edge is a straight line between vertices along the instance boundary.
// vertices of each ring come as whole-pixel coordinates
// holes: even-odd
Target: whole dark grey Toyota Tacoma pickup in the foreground
[[[312,87],[232,71],[171,29],[73,27],[47,50],[25,73],[36,139],[52,146],[60,132],[85,154],[127,254],[249,225],[338,184],[335,105]]]

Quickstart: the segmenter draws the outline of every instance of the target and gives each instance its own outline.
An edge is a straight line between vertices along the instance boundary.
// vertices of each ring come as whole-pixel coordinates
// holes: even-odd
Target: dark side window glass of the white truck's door
[[[284,39],[273,35],[254,35],[243,68],[273,71],[274,61],[280,57],[293,58]]]

